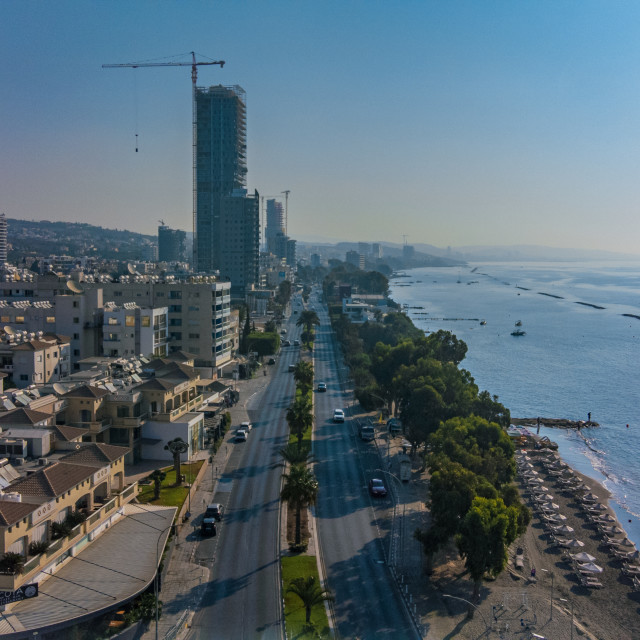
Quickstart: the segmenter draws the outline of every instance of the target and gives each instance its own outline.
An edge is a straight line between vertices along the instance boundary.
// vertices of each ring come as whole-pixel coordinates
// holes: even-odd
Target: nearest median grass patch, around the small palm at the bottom
[[[329,621],[324,605],[311,610],[311,627],[307,626],[306,613],[302,601],[294,593],[287,593],[287,587],[295,578],[315,576],[318,582],[318,565],[315,556],[286,556],[282,558],[282,590],[284,597],[284,621],[287,638],[329,638]]]

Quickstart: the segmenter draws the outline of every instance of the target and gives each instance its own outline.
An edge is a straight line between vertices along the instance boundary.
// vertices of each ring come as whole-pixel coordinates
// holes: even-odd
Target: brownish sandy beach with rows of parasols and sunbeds
[[[483,583],[478,610],[470,621],[465,618],[465,602],[442,598],[445,593],[454,598],[471,597],[471,583],[464,574],[463,562],[457,558],[455,549],[440,555],[428,581],[428,590],[432,597],[439,594],[441,606],[433,607],[424,619],[427,637],[640,639],[640,591],[634,591],[632,578],[622,573],[623,561],[610,555],[604,535],[590,520],[602,516],[615,520],[614,512],[608,507],[607,490],[595,480],[562,466],[557,454],[552,454],[546,463],[543,456],[533,452],[518,452],[517,458],[518,486],[533,513],[527,533],[509,550],[505,571],[496,580]],[[570,478],[574,479],[569,481]],[[586,488],[581,486],[576,490],[568,481]],[[597,499],[589,497],[583,502],[581,496],[585,494],[593,494]],[[534,498],[536,495],[539,500]],[[567,529],[565,534],[552,534],[541,504],[549,505],[547,513],[556,514],[553,517],[558,518],[558,526],[570,527],[573,532]],[[596,504],[602,506],[594,508]],[[592,514],[587,511],[587,505]],[[624,523],[617,520],[602,524],[624,529]],[[570,543],[575,549],[559,546],[554,535],[563,544],[578,540],[582,545]],[[626,536],[624,531],[619,531],[611,533],[611,537],[622,542]],[[625,544],[616,548],[620,553],[635,550]],[[593,556],[593,563],[602,568],[602,572],[585,575],[590,575],[590,579],[601,586],[581,584],[577,563],[572,566],[569,553]],[[638,560],[631,562],[639,564]],[[532,569],[535,569],[534,576]],[[443,606],[450,616],[446,621]]]

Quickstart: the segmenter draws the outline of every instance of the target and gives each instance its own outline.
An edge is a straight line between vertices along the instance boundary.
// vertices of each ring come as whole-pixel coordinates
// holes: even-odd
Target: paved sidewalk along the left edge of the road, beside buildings
[[[267,376],[260,373],[259,376],[250,380],[237,382],[236,388],[240,392],[240,401],[228,410],[231,413],[232,428],[225,434],[223,442],[213,456],[212,463],[209,463],[211,455],[209,451],[199,451],[192,458],[192,460],[204,460],[205,463],[194,482],[194,490],[191,494],[191,520],[182,522],[182,513],[186,508],[185,503],[185,507],[176,520],[178,533],[167,547],[165,570],[161,576],[160,600],[163,603],[163,610],[158,621],[158,638],[178,638],[182,632],[188,629],[191,617],[204,595],[207,582],[211,580],[211,567],[203,566],[195,561],[201,538],[193,520],[200,515],[201,505],[213,502],[218,478],[224,473],[233,450],[232,441],[235,435],[233,426],[250,420],[246,404],[253,394],[260,391],[270,381],[269,369],[267,372]],[[154,640],[155,621],[152,621],[138,638]]]

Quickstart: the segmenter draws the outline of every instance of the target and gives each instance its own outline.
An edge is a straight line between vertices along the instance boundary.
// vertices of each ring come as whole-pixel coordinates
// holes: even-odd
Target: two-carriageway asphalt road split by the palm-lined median
[[[299,303],[294,299],[294,308]],[[367,481],[380,466],[374,444],[357,439],[355,425],[332,421],[346,409],[336,343],[324,307],[312,297],[321,324],[316,329],[314,392],[315,473],[320,491],[315,509],[326,586],[335,596],[331,618],[341,638],[417,638],[386,564],[389,499],[372,502]],[[287,338],[299,337],[297,315]],[[214,562],[212,580],[192,621],[190,639],[282,639],[280,592],[279,450],[287,442],[286,408],[295,391],[289,364],[299,349],[285,347],[269,383],[247,402],[254,428],[245,443],[233,445],[218,483],[215,502],[227,509],[219,535],[203,540],[198,559]],[[236,425],[234,425],[236,426]]]

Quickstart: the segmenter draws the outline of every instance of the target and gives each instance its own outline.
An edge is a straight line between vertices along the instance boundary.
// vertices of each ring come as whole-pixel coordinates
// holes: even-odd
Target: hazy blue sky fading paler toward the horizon
[[[2,0],[0,211],[191,230],[189,67],[101,68],[189,51],[293,237],[640,253],[637,0]]]

